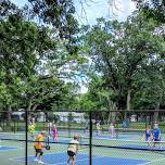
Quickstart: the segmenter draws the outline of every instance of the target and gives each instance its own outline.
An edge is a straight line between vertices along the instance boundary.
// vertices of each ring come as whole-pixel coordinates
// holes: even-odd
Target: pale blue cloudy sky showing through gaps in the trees
[[[27,3],[27,0],[11,0],[20,8]],[[73,0],[78,22],[80,25],[94,25],[98,17],[107,20],[126,21],[127,16],[136,9],[131,0]],[[85,3],[85,1],[87,3]],[[84,5],[80,5],[84,2]],[[113,4],[113,5],[112,5]],[[112,14],[112,12],[114,14]],[[86,93],[87,87],[81,85],[80,93]]]

